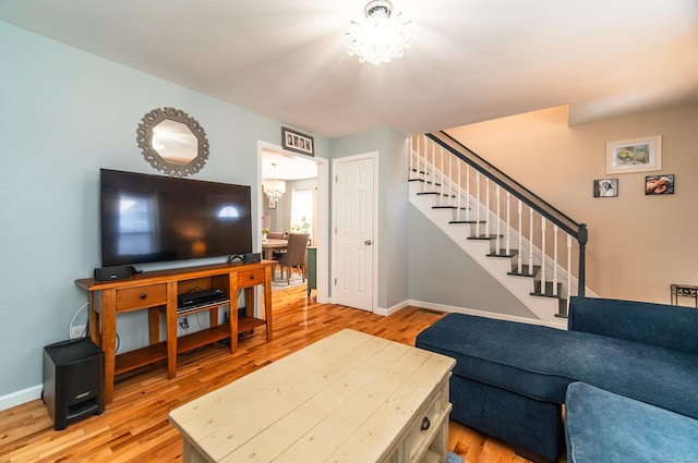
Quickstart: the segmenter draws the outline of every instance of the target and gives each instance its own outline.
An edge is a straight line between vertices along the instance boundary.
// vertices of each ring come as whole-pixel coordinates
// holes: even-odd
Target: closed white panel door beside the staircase
[[[373,312],[375,154],[334,161],[333,300]]]

